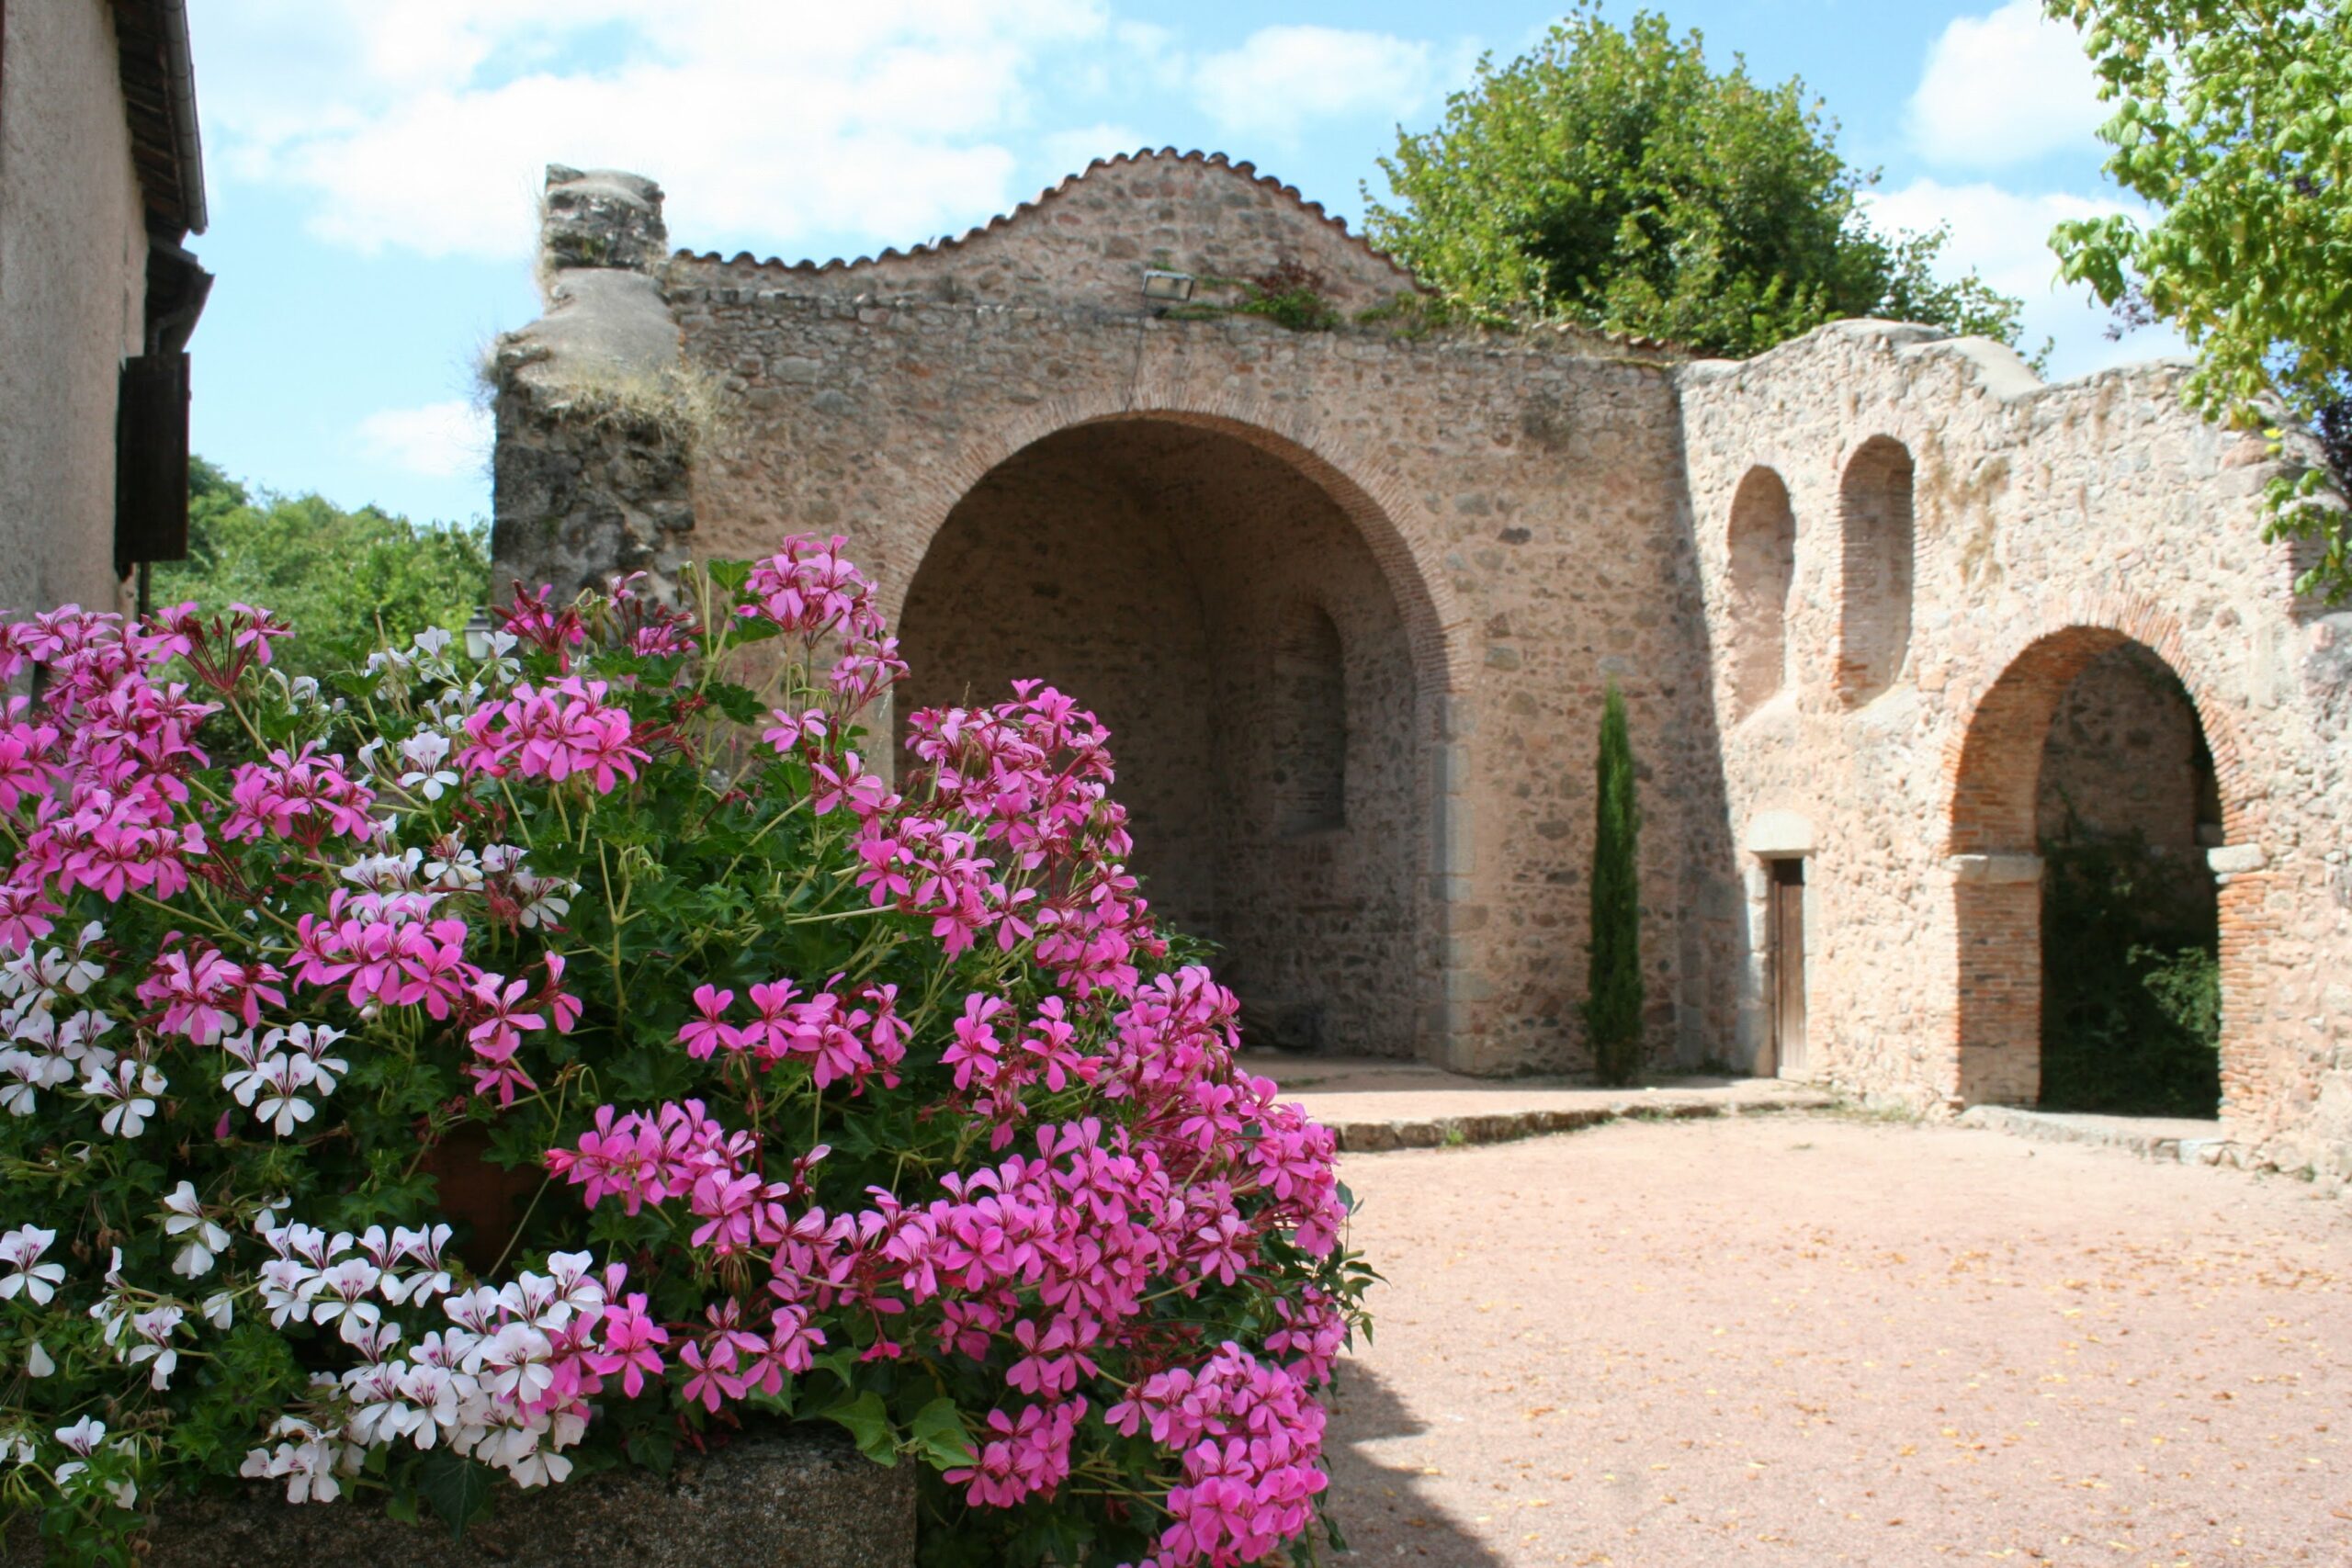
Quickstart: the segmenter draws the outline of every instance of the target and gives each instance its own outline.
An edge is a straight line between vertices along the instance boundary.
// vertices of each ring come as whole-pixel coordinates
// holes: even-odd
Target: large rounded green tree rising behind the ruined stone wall
[[[1444,122],[1397,132],[1367,228],[1482,315],[1541,313],[1752,355],[1820,322],[1882,315],[2013,343],[2020,301],[1976,273],[1938,282],[1945,230],[1879,233],[1877,172],[1790,78],[1708,68],[1696,31],[1623,31],[1597,2],[1510,66],[1482,59]]]

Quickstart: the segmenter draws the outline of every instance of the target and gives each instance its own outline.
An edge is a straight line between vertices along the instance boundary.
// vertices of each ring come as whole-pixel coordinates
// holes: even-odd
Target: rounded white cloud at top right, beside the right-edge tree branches
[[[1955,16],[1929,49],[1907,106],[1912,148],[1955,169],[2089,148],[2105,120],[2082,38],[2044,16],[2042,0]]]

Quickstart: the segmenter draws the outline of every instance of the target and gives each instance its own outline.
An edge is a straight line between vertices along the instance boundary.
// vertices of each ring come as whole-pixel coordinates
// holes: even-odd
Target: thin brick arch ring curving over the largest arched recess
[[[1421,696],[1435,698],[1468,691],[1470,616],[1461,609],[1451,581],[1444,571],[1444,550],[1437,529],[1423,515],[1409,491],[1378,465],[1364,463],[1359,454],[1319,430],[1312,421],[1254,397],[1223,395],[1202,402],[1131,402],[1124,397],[1054,397],[995,425],[985,437],[967,442],[953,461],[943,465],[915,503],[915,550],[913,557],[891,562],[896,569],[877,585],[880,609],[891,625],[906,609],[906,595],[915,583],[931,543],[948,524],[955,505],[971,494],[990,470],[1061,430],[1080,425],[1108,425],[1129,421],[1162,421],[1230,435],[1258,451],[1289,463],[1310,480],[1348,515],[1364,545],[1371,550],[1381,576],[1397,597],[1397,614],[1404,621],[1404,637],[1414,656],[1414,679]]]

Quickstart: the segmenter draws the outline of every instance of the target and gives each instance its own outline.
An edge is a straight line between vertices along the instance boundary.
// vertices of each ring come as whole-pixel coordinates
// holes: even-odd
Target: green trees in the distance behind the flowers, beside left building
[[[207,614],[261,604],[301,632],[278,644],[289,670],[318,672],[374,644],[376,628],[466,625],[489,592],[489,534],[419,527],[374,505],[280,496],[188,461],[188,559],[155,567],[155,607]]]

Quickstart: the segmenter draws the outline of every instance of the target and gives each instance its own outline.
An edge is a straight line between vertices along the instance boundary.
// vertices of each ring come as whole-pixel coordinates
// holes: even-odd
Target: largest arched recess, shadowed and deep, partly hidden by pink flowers
[[[1091,708],[1131,870],[1162,926],[1218,943],[1247,1041],[1411,1056],[1437,1001],[1435,726],[1362,524],[1270,447],[1115,418],[1002,461],[908,585],[901,712],[1016,677]]]

